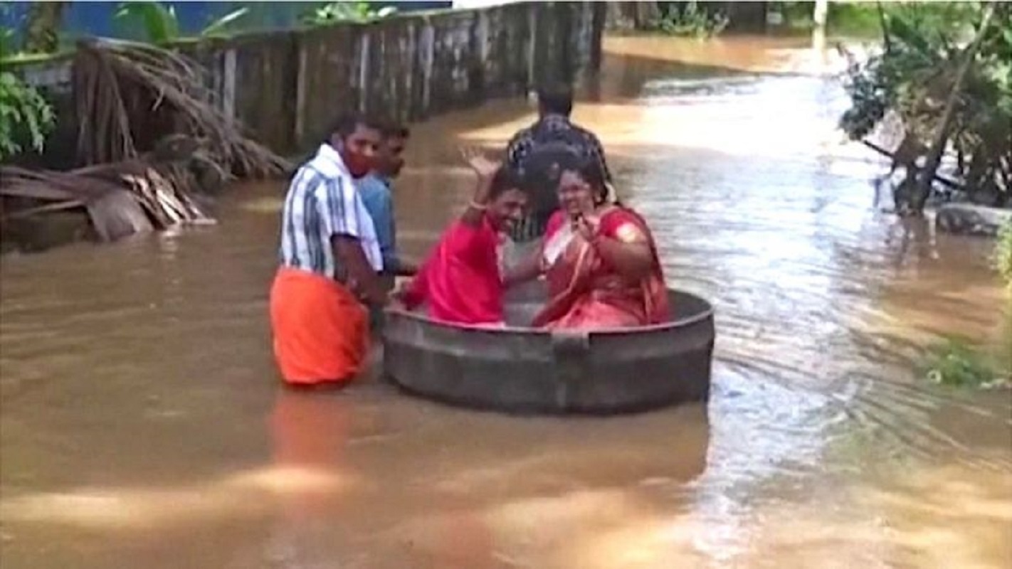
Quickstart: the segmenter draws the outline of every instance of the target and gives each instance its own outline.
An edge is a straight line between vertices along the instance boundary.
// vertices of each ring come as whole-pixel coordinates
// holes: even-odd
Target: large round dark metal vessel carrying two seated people
[[[510,291],[505,317],[529,322],[543,283]],[[388,312],[384,375],[405,391],[511,414],[621,414],[709,397],[712,306],[668,290],[675,319],[611,329],[457,326]]]

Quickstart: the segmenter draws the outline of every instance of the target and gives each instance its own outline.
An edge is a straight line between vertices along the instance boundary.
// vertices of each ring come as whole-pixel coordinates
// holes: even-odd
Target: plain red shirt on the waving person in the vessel
[[[405,304],[428,303],[429,317],[444,322],[503,321],[498,246],[499,233],[487,218],[479,227],[453,221],[406,291]]]

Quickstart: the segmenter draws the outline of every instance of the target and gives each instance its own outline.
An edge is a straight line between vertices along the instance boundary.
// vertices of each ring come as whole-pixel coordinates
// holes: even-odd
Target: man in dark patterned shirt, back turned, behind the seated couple
[[[604,150],[597,136],[570,120],[573,113],[573,88],[556,83],[537,90],[537,121],[513,135],[506,147],[506,164],[524,178],[530,196],[530,213],[510,233],[516,243],[541,236],[549,216],[559,208],[556,188],[558,169],[553,165],[567,154],[592,158],[601,167],[604,181],[611,183],[611,172],[604,161]]]

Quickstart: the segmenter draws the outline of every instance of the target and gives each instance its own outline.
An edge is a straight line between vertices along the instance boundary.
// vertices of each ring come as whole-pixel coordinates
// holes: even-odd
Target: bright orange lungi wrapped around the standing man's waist
[[[281,267],[270,288],[274,359],[293,385],[345,383],[365,365],[368,312],[343,285]]]

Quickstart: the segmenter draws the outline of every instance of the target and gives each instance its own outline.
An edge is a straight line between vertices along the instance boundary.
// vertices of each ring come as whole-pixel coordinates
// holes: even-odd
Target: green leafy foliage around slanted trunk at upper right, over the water
[[[965,44],[982,25],[984,5],[883,3],[886,50],[849,70],[851,107],[840,119],[852,138],[867,136],[889,111],[904,125],[910,149],[926,155]],[[956,175],[971,199],[1012,199],[1012,4],[1000,4],[955,99],[949,136]]]

